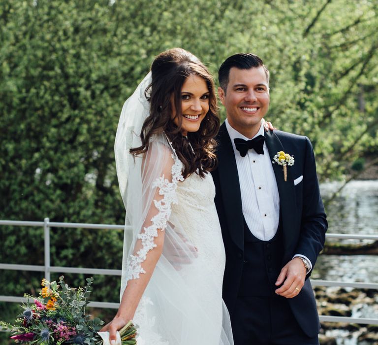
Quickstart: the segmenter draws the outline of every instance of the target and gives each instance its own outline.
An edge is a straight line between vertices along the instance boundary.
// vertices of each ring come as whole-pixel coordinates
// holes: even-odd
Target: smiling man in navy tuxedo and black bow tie
[[[226,252],[223,299],[235,345],[318,344],[308,278],[327,221],[311,142],[276,130],[264,133],[269,71],[256,55],[226,59],[219,82],[227,119],[213,178]],[[294,158],[287,176],[272,163],[280,151]]]

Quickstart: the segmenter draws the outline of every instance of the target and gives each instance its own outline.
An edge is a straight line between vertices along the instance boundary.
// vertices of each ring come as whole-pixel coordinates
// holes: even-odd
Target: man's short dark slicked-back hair
[[[265,70],[266,79],[269,84],[269,70],[266,68],[262,60],[252,53],[235,54],[227,58],[218,71],[218,80],[224,93],[227,90],[227,85],[230,76],[230,69],[236,67],[237,69],[252,69],[262,66]]]

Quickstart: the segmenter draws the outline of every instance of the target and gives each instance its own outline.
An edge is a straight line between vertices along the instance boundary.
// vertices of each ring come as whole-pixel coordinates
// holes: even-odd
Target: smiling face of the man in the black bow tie
[[[233,67],[227,89],[218,90],[231,127],[247,138],[253,138],[269,108],[269,85],[264,68]]]

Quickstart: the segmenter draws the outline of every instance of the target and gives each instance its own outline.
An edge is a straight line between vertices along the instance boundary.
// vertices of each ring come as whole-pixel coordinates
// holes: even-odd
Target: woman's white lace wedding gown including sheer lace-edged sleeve
[[[184,180],[182,163],[164,135],[135,164],[142,179],[130,174],[126,199],[141,204],[126,207],[134,233],[133,239],[125,236],[121,296],[127,281],[143,274],[154,237],[165,231],[163,253],[133,319],[137,344],[233,344],[221,297],[225,253],[211,174],[192,173]],[[139,199],[136,186],[142,189]]]

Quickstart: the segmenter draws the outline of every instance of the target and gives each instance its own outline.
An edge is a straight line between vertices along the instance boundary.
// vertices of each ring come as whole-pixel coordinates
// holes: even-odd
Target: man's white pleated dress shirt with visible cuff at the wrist
[[[280,195],[273,171],[272,158],[265,142],[263,155],[259,155],[254,149],[251,149],[248,150],[245,157],[240,155],[234,143],[235,138],[250,140],[260,135],[264,136],[264,126],[261,121],[257,134],[253,138],[247,138],[232,128],[227,119],[225,124],[234,149],[244,219],[253,236],[262,241],[269,241],[276,235],[280,220]],[[310,272],[313,267],[311,261],[303,254],[295,254],[293,257],[296,256],[303,257],[308,261]]]

